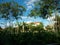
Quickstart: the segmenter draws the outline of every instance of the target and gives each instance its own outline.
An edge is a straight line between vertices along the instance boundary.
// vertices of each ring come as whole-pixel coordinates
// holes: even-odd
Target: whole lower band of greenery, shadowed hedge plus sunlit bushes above
[[[7,27],[0,30],[0,44],[2,45],[46,45],[48,43],[60,43],[60,34],[43,29],[43,24],[38,26],[25,25],[25,31]],[[29,27],[30,30],[27,28]],[[11,28],[11,29],[10,29]],[[18,27],[17,27],[18,28]],[[9,30],[10,29],[10,30]],[[20,32],[19,32],[20,30]],[[35,33],[34,31],[38,31]],[[58,36],[57,36],[58,35]]]

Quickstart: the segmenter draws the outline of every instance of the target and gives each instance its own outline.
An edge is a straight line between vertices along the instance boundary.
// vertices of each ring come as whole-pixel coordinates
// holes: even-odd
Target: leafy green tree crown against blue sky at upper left
[[[10,19],[11,17],[18,19],[26,9],[16,2],[6,2],[0,4],[0,17]],[[11,17],[10,17],[11,16]]]

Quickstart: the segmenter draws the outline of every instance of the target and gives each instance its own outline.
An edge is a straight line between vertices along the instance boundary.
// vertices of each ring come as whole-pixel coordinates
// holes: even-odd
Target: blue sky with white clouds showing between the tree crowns
[[[9,1],[11,1],[11,0],[9,0]],[[4,0],[4,2],[9,2],[9,1]],[[18,20],[19,22],[23,22],[23,21],[24,22],[42,22],[44,24],[44,26],[47,26],[51,22],[50,19],[54,18],[54,16],[51,18],[48,18],[48,19],[42,19],[40,17],[37,17],[37,18],[27,17],[27,15],[30,13],[30,11],[34,8],[34,2],[36,0],[14,0],[14,1],[16,1],[19,5],[22,5],[26,8],[26,12],[24,13],[24,16],[22,16],[22,20],[21,19]],[[1,2],[1,0],[0,0],[0,2]],[[0,20],[0,22],[4,22],[4,21]]]

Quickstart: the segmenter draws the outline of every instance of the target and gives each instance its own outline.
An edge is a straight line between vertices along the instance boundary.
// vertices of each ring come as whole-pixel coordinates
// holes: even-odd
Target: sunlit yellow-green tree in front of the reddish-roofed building
[[[30,31],[38,31],[38,32],[40,32],[40,31],[44,30],[44,25],[43,25],[42,22],[40,22],[39,25],[36,25],[36,26],[35,26],[34,23],[31,23],[29,25],[29,29],[30,29]]]

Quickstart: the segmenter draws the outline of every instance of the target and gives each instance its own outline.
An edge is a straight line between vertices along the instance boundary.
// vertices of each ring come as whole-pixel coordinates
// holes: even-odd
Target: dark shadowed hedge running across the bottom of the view
[[[13,31],[14,32],[14,31]],[[18,32],[0,31],[0,44],[2,45],[46,45],[48,43],[60,43],[60,36],[53,32]]]

